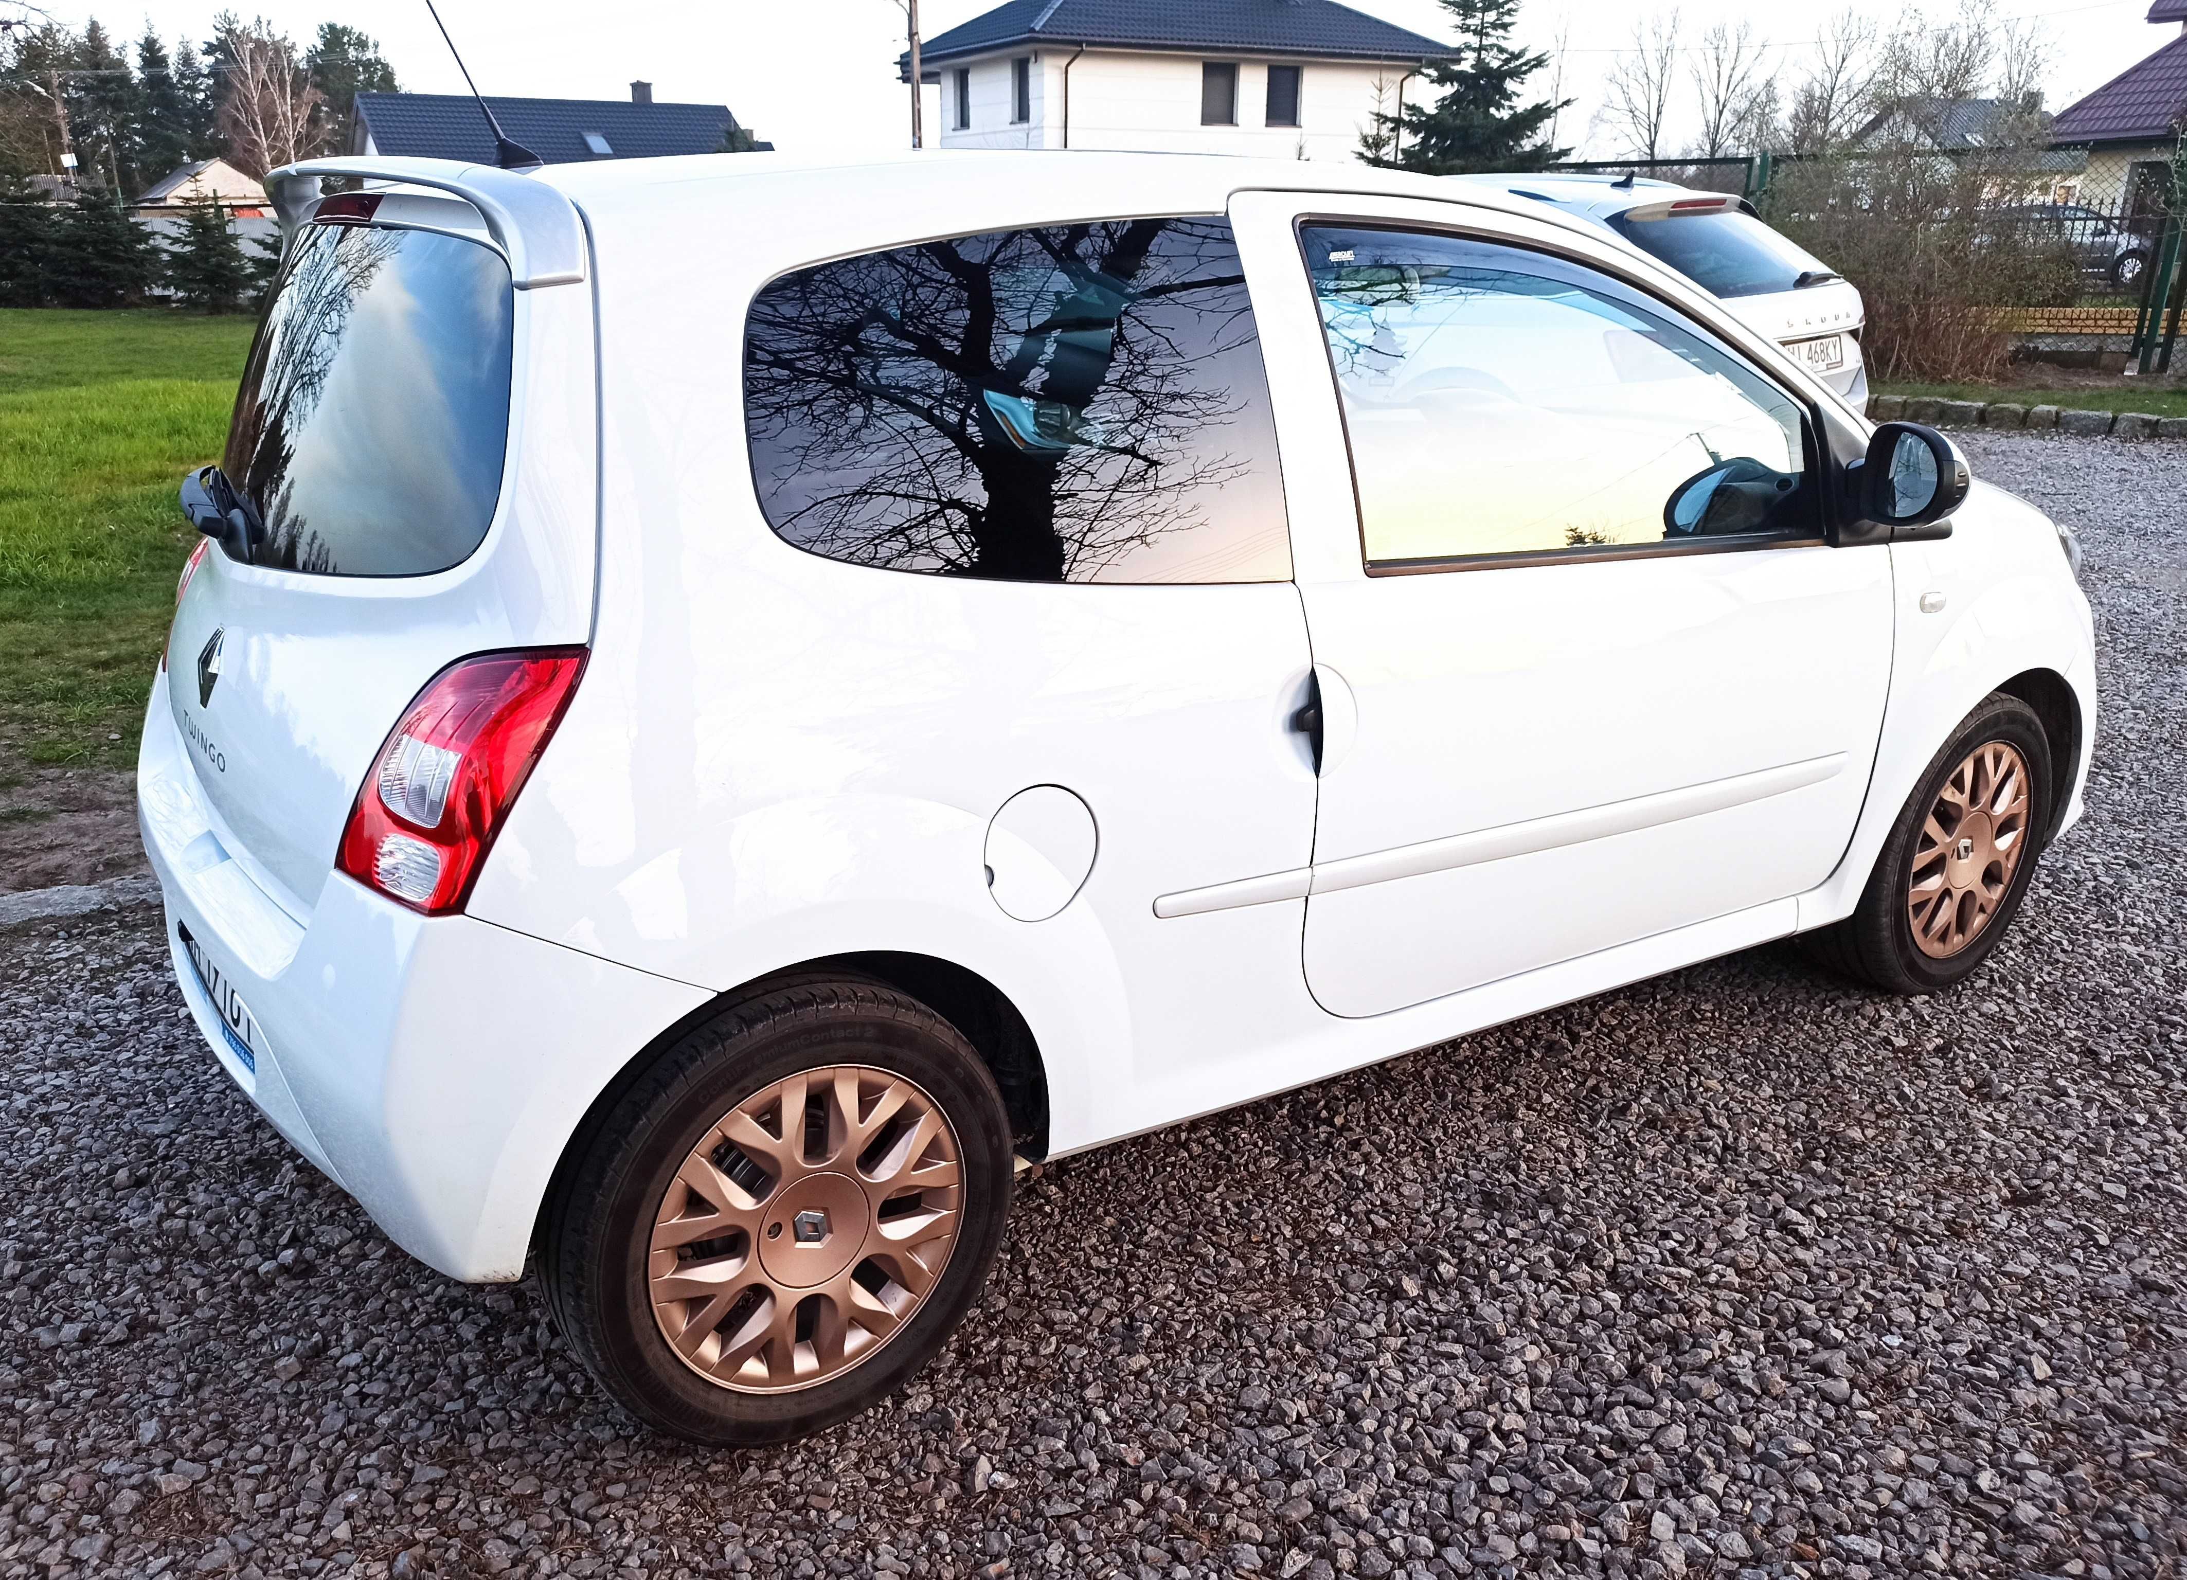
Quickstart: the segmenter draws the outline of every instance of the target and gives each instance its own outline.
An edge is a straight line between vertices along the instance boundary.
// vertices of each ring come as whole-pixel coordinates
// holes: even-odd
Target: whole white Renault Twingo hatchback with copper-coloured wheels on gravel
[[[2080,814],[2071,541],[1540,204],[271,186],[140,764],[182,989],[665,1431],[897,1387],[1013,1158],[1793,932],[1949,987]]]

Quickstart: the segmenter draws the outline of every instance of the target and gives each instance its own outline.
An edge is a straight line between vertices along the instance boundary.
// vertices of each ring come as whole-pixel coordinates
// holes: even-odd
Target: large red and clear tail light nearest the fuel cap
[[[429,917],[461,910],[582,672],[584,648],[442,670],[372,759],[335,864]]]

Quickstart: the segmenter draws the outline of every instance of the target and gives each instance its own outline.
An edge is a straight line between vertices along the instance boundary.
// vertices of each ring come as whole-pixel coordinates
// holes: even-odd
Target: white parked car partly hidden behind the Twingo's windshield
[[[1837,269],[1769,230],[1754,204],[1671,182],[1610,175],[1459,175],[1594,221],[1715,295],[1809,372],[1868,409],[1861,293]]]

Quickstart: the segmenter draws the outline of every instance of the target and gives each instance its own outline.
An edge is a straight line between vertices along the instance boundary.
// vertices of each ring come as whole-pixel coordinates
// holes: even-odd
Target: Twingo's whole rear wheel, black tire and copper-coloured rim
[[[958,1031],[870,980],[798,980],[682,1035],[593,1127],[542,1274],[639,1420],[818,1431],[943,1346],[1002,1243],[1010,1125]]]

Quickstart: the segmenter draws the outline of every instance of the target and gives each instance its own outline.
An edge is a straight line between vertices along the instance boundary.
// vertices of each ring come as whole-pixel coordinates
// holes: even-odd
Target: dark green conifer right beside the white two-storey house
[[[1520,103],[1527,79],[1548,57],[1511,44],[1518,0],[1441,0],[1441,7],[1457,22],[1459,53],[1426,72],[1439,96],[1432,105],[1406,105],[1402,120],[1376,114],[1360,138],[1360,158],[1426,175],[1540,171],[1564,158],[1568,149],[1553,149],[1546,138],[1564,105]]]

